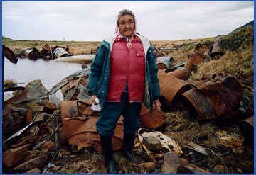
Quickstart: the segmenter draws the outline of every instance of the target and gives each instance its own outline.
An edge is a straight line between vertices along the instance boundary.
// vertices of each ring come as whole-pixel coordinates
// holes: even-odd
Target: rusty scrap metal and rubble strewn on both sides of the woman
[[[220,36],[215,41],[219,39]],[[176,45],[175,48],[178,47],[183,45]],[[137,133],[136,147],[140,150],[137,155],[141,159],[144,158],[143,152],[157,155],[157,159],[161,160],[158,161],[161,162],[158,172],[221,172],[216,170],[218,167],[209,169],[189,162],[186,159],[188,154],[185,156],[183,149],[189,149],[191,154],[196,152],[199,157],[212,157],[216,152],[193,142],[181,147],[171,135],[161,132],[166,127],[166,113],[177,108],[188,111],[199,122],[214,122],[220,126],[238,125],[242,133],[240,137],[223,134],[220,142],[235,149],[237,154],[245,147],[253,149],[253,105],[244,106],[242,103],[246,86],[253,86],[253,81],[232,74],[204,74],[200,81],[188,81],[191,72],[205,61],[206,52],[215,58],[223,54],[218,43],[213,43],[197,45],[194,52],[188,54],[188,60],[178,65],[171,65],[172,57],[156,55],[163,111],[157,113],[154,110],[151,113],[142,105],[142,128]],[[95,128],[100,113],[91,109],[92,102],[87,93],[89,72],[90,64],[82,71],[65,77],[50,91],[40,80],[31,81],[20,94],[3,102],[4,172],[61,173],[61,167],[55,164],[63,156],[60,149],[81,152],[93,148],[97,153],[102,152],[100,135]],[[122,137],[121,117],[112,137],[115,151],[121,149]],[[152,158],[153,161],[143,159],[144,162],[138,166],[149,173],[157,172],[156,157]],[[237,168],[238,173],[252,173],[253,157],[252,166]]]

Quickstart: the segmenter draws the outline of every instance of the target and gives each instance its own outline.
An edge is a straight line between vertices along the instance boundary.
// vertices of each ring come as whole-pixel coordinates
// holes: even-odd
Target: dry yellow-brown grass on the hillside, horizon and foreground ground
[[[222,57],[211,58],[205,56],[204,61],[198,64],[196,71],[191,72],[191,77],[188,81],[201,80],[203,74],[218,74],[224,75],[233,74],[247,78],[254,74],[254,29],[252,27],[241,28],[230,35],[225,35],[221,40],[220,45],[224,53]],[[9,38],[2,38],[3,44],[9,47],[11,50],[23,50],[30,47],[36,47],[41,50],[43,45],[55,45],[69,47],[69,52],[74,55],[84,55],[95,53],[97,47],[100,45],[99,42],[76,42],[76,41],[31,41],[31,40],[11,40]],[[161,40],[151,41],[159,52],[165,56],[173,57],[173,65],[187,61],[188,54],[195,52],[196,45],[213,45],[215,37],[213,38],[202,38],[197,40]],[[160,50],[161,47],[172,47],[174,44],[184,44],[178,50]],[[155,51],[156,52],[156,51]],[[246,106],[253,105],[253,90],[245,91],[242,101],[245,102]],[[247,95],[249,94],[249,95]],[[237,172],[252,172],[253,169],[253,157],[245,152],[244,154],[228,154],[228,156],[219,156],[218,154],[226,154],[226,152],[234,152],[234,149],[224,147],[218,142],[218,134],[226,131],[230,131],[229,135],[241,135],[236,133],[239,131],[238,125],[220,126],[210,122],[199,123],[196,118],[193,118],[187,111],[170,111],[165,113],[166,116],[166,127],[161,128],[164,134],[172,137],[181,149],[184,151],[184,156],[190,154],[191,150],[186,152],[187,142],[194,142],[195,144],[201,145],[206,149],[211,149],[217,154],[214,157],[206,157],[208,162],[214,162],[212,165],[208,165],[214,173],[237,173]],[[81,156],[81,155],[80,155]],[[83,157],[82,157],[83,156]],[[103,166],[102,155],[96,152],[87,152],[82,155],[79,159],[72,160],[73,162],[67,162],[66,166],[62,166],[60,173],[106,173]],[[142,157],[139,154],[140,159],[150,159],[152,155],[146,155]],[[153,157],[155,158],[155,157]],[[121,169],[119,173],[148,173],[139,165],[129,164],[119,152],[115,153],[115,159],[117,160],[117,169]],[[227,161],[227,160],[228,161]],[[63,160],[63,162],[68,159]],[[154,162],[154,161],[152,161]],[[61,162],[60,162],[61,163]],[[198,162],[199,164],[200,162]],[[160,164],[160,163],[159,163]],[[196,164],[194,162],[194,164]],[[216,166],[216,164],[218,166]],[[60,164],[61,165],[61,164]],[[237,169],[231,169],[231,166],[237,167]],[[160,166],[159,166],[160,167]],[[219,168],[220,167],[220,168]],[[160,169],[160,168],[159,168]],[[241,170],[242,169],[242,170]]]

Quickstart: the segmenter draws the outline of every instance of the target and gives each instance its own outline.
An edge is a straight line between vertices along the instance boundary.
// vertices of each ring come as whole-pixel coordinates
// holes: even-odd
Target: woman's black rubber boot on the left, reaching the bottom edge
[[[117,173],[114,162],[114,155],[112,154],[112,137],[103,137],[102,135],[100,135],[100,145],[104,154],[107,173]]]

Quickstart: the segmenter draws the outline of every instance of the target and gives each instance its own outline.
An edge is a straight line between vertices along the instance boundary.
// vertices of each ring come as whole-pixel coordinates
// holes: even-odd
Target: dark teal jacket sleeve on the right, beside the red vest
[[[151,45],[148,52],[148,62],[149,62],[149,72],[151,77],[151,94],[152,94],[152,100],[158,100],[160,96],[160,87],[159,87],[159,79],[157,77],[158,67],[156,65],[155,57],[153,54],[154,47]]]

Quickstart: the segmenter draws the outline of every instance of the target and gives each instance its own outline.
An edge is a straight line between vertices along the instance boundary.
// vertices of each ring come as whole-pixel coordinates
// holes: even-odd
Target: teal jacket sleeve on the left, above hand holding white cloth
[[[96,52],[95,58],[92,61],[90,66],[90,74],[89,74],[89,94],[97,95],[98,91],[98,82],[100,81],[102,75],[102,67],[103,67],[103,55],[104,55],[104,48],[100,45],[99,49]]]

